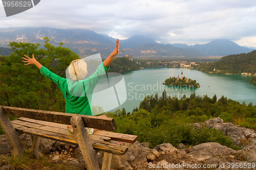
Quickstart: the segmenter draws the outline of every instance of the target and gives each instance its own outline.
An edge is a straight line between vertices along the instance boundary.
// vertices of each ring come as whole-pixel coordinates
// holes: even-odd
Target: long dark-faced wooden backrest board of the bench
[[[85,127],[95,128],[107,131],[115,131],[116,126],[114,118],[111,117],[98,117],[98,116],[87,116],[70,113],[60,113],[44,110],[33,110],[25,108],[16,108],[8,106],[0,106],[4,110],[5,114],[12,115],[15,117],[27,117],[36,120],[42,120],[46,122],[53,122],[58,124],[71,125],[70,119],[73,116],[82,117]]]

